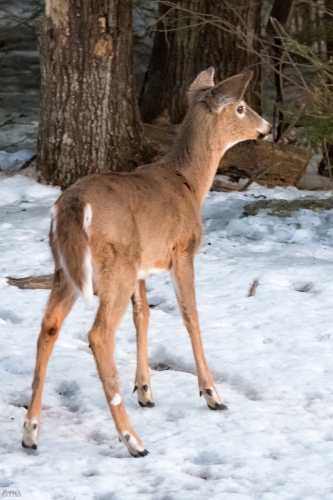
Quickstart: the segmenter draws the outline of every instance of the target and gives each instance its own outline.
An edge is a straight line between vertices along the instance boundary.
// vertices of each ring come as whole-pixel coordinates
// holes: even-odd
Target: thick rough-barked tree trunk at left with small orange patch
[[[46,0],[37,168],[48,182],[141,161],[131,31],[132,0]]]

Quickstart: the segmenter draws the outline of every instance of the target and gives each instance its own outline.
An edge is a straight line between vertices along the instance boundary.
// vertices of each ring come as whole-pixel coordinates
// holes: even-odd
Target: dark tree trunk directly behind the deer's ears
[[[180,123],[186,112],[188,86],[209,66],[214,66],[217,80],[246,68],[254,70],[247,101],[260,111],[260,61],[253,49],[258,48],[256,35],[260,34],[261,1],[230,2],[233,3],[235,7],[230,8],[221,0],[175,0],[179,8],[170,9],[160,2],[161,20],[156,27],[139,100],[144,122],[151,123],[167,112],[172,123]],[[202,22],[200,14],[206,18],[206,23]],[[214,21],[213,17],[220,21]],[[232,32],[226,23],[232,25]],[[237,36],[237,27],[247,35],[249,50],[241,48],[244,39]]]

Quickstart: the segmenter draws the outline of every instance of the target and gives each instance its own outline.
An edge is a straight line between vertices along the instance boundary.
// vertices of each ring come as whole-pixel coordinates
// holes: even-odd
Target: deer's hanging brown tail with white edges
[[[51,211],[50,246],[56,267],[74,284],[87,309],[93,302],[93,266],[90,248],[92,209],[75,197],[57,203]]]

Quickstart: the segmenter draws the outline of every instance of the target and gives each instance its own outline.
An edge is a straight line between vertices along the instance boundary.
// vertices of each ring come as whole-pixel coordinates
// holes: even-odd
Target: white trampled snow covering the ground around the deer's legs
[[[333,498],[333,210],[242,217],[256,200],[325,198],[295,188],[211,193],[195,261],[202,337],[225,412],[199,398],[190,341],[169,275],[147,281],[154,409],[132,394],[131,308],[117,332],[121,398],[150,451],[119,443],[87,343],[81,299],[51,357],[39,447],[21,447],[48,291],[5,277],[53,271],[50,208],[60,194],[0,176],[0,487],[34,500],[329,500]],[[256,294],[248,297],[254,280]],[[95,297],[95,309],[98,299]]]

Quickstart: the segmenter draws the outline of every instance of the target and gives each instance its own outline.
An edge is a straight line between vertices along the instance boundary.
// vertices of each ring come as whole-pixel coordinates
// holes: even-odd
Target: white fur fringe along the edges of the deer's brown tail
[[[59,256],[60,265],[65,271],[66,275],[71,279],[70,273],[66,266],[64,256],[62,255],[61,249],[57,241],[57,207],[54,206],[51,209],[51,219],[52,219],[52,233],[54,240],[57,245],[57,251]],[[82,228],[87,233],[88,238],[90,236],[90,225],[92,220],[92,209],[90,203],[84,208],[83,212],[83,224]],[[87,245],[86,256],[83,261],[83,285],[82,290],[78,289],[79,294],[82,297],[86,309],[91,309],[94,302],[94,288],[93,288],[93,266],[92,266],[92,255],[89,243]],[[72,280],[71,280],[72,281]]]

